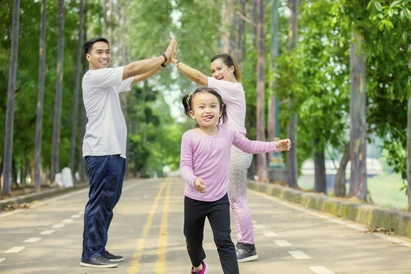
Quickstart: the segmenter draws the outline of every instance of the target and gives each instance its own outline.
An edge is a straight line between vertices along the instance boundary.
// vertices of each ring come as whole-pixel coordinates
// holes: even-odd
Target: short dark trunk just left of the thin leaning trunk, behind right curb
[[[314,159],[314,192],[327,194],[324,146],[320,144],[319,138],[314,138],[312,141],[312,150],[312,158]]]

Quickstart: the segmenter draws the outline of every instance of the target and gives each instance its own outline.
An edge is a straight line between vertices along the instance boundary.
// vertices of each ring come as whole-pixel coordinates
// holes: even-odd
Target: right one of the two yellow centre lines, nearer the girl
[[[169,180],[169,185],[167,186],[166,197],[164,197],[160,238],[158,240],[158,260],[157,262],[155,262],[155,274],[166,273],[167,228],[169,227],[168,220],[170,211],[170,187],[171,180]]]

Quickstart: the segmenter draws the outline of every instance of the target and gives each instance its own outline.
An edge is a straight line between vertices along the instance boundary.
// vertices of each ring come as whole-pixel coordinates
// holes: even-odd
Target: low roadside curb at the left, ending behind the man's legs
[[[38,201],[38,200],[49,198],[49,197],[55,197],[55,196],[62,195],[62,194],[72,192],[75,190],[80,190],[83,188],[88,188],[88,182],[75,184],[75,186],[72,186],[70,188],[55,187],[55,188],[51,188],[49,190],[44,190],[41,192],[33,192],[33,193],[26,194],[26,195],[4,199],[0,201],[0,212],[2,212],[5,208],[8,208],[9,206],[14,207],[21,203],[32,203],[33,201]]]

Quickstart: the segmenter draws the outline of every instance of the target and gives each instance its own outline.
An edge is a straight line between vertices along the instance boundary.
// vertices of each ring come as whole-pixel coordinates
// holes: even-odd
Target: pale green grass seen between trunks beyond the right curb
[[[349,175],[349,174],[347,174]],[[304,190],[314,188],[314,175],[302,175],[298,179],[299,187]],[[371,199],[377,206],[393,208],[395,210],[407,210],[407,195],[405,190],[400,190],[403,186],[401,175],[396,173],[382,174],[372,178],[367,178],[367,185]],[[349,184],[347,184],[347,192]],[[328,195],[334,196],[333,190],[328,190]]]

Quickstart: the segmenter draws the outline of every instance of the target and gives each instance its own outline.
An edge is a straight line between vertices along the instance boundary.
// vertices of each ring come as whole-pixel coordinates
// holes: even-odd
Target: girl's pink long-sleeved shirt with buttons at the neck
[[[247,139],[232,127],[218,125],[214,136],[204,136],[190,129],[182,137],[180,172],[186,181],[184,195],[198,201],[217,201],[227,193],[228,167],[232,145],[245,153],[279,151],[275,142]],[[194,188],[197,177],[207,184],[207,192]]]

